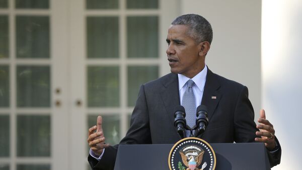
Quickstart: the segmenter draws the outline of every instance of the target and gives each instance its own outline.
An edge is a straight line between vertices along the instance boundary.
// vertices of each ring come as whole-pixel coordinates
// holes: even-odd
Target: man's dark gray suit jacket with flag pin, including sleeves
[[[216,98],[212,98],[216,96]],[[201,104],[208,108],[209,123],[201,138],[209,143],[254,142],[258,130],[248,89],[207,71]],[[140,87],[131,125],[120,144],[176,143],[174,108],[180,105],[178,76],[170,73]],[[105,149],[100,161],[89,156],[92,169],[113,169],[118,145]],[[281,147],[268,152],[271,166],[280,163]]]

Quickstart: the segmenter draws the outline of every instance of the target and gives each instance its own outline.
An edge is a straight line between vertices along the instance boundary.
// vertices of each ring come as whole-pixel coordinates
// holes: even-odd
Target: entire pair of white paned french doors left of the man
[[[176,0],[0,0],[0,170],[89,169],[87,131],[125,135],[140,84],[169,72]]]

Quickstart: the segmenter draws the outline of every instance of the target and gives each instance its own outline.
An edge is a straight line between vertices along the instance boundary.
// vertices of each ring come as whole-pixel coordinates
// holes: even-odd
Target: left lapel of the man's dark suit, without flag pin
[[[177,74],[171,73],[166,79],[162,80],[162,84],[161,96],[169,115],[169,120],[174,126],[174,109],[177,105],[180,105]]]

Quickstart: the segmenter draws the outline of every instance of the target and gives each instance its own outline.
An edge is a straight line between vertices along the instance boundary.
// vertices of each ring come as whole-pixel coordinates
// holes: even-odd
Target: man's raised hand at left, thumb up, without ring
[[[98,116],[97,125],[89,129],[87,141],[89,143],[89,147],[98,156],[102,154],[105,147],[109,146],[108,143],[104,143],[105,137],[102,128],[102,116]]]

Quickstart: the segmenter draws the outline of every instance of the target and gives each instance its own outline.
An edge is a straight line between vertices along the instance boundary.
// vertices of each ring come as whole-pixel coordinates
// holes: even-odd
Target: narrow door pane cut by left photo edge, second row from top
[[[0,0],[1,1],[1,0]],[[0,15],[0,59],[9,57],[9,22],[8,16]]]

